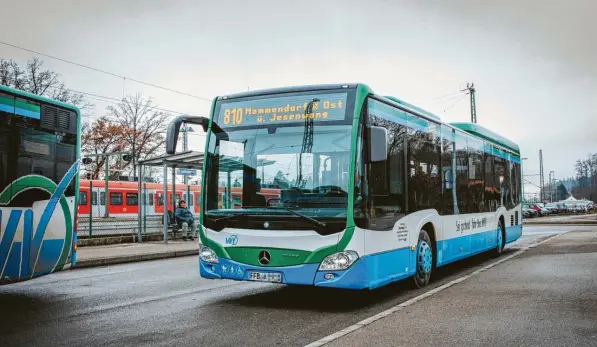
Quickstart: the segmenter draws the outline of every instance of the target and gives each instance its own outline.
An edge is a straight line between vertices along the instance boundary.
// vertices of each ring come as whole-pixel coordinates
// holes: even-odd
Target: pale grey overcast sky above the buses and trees
[[[525,174],[539,172],[541,148],[546,176],[572,176],[597,152],[597,1],[489,3],[20,0],[2,5],[0,41],[207,99],[364,82],[446,122],[470,120],[468,98],[442,96],[474,81],[478,122],[520,145]],[[0,45],[0,56],[33,55]],[[45,60],[72,89],[209,112],[208,101]],[[100,115],[107,104],[93,102]]]

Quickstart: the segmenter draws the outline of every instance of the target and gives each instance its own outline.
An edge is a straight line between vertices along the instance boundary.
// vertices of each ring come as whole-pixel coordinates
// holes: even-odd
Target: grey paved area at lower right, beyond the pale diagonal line
[[[593,230],[549,240],[325,346],[597,346]]]

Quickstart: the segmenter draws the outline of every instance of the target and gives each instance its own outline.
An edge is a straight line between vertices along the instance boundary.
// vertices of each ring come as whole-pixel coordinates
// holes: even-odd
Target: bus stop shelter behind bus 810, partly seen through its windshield
[[[168,215],[168,168],[172,168],[172,182],[171,182],[171,191],[172,199],[172,213],[176,211],[176,170],[177,169],[193,169],[193,170],[203,170],[203,160],[204,154],[202,152],[197,151],[186,151],[182,153],[172,154],[172,155],[162,155],[159,157],[140,160],[137,162],[138,170],[139,170],[139,180],[138,180],[138,196],[142,197],[138,199],[138,218],[137,218],[137,230],[138,230],[138,240],[141,242],[142,240],[142,216],[145,215],[145,197],[143,197],[143,169],[147,166],[150,167],[162,167],[163,168],[163,201],[164,201],[164,215],[163,215],[163,233],[164,233],[164,243],[168,243],[168,225],[170,224],[170,217]],[[260,159],[257,161],[257,167],[264,167],[268,165],[274,164],[275,161],[273,160],[264,160]],[[231,187],[231,173],[234,171],[243,170],[242,160],[240,158],[220,158],[219,163],[219,170],[220,172],[227,173],[228,179],[228,187]],[[263,170],[262,170],[262,182],[263,179]],[[188,192],[187,192],[188,193]],[[227,192],[228,198],[230,198],[230,191]]]

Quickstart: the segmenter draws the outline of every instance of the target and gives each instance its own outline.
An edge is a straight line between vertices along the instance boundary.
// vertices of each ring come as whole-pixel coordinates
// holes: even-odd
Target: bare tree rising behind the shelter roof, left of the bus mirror
[[[128,95],[116,106],[106,108],[107,116],[123,130],[123,141],[133,154],[133,173],[136,162],[162,153],[164,130],[168,114],[157,109],[153,99],[141,94]]]

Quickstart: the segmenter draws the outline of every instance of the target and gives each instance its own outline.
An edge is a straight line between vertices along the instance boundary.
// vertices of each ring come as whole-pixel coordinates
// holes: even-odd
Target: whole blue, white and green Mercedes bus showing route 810
[[[207,132],[205,278],[371,289],[412,277],[423,287],[436,267],[499,255],[521,236],[515,143],[367,85],[218,97],[209,119],[169,125],[168,153],[184,122]],[[231,187],[242,189],[234,204]]]

